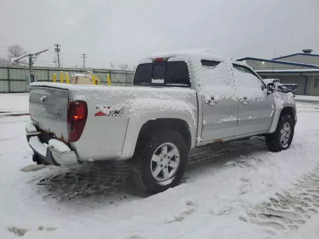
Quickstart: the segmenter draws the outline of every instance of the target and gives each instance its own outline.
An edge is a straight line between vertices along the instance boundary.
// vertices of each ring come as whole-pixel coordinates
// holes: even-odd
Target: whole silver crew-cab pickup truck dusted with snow
[[[194,147],[262,135],[280,151],[293,140],[292,94],[242,62],[207,51],[154,55],[139,62],[132,84],[31,83],[33,161],[130,159],[137,182],[157,193],[180,182]]]

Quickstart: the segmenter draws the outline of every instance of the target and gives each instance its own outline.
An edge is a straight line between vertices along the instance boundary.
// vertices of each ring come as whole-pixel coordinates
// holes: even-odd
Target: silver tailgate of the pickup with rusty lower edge
[[[67,130],[68,90],[32,86],[29,109],[32,123],[38,130],[68,143]]]

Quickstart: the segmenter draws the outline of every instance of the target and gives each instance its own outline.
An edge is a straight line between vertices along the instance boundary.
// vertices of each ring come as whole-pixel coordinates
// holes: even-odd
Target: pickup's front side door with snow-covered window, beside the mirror
[[[273,117],[273,95],[266,94],[266,86],[249,68],[233,65],[233,71],[239,103],[234,136],[268,130]]]

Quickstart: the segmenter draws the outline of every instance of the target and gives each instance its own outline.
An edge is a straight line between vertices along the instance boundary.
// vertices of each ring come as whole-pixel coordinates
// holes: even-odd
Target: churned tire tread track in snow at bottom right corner
[[[319,165],[297,180],[294,188],[277,192],[269,202],[247,209],[239,220],[263,227],[270,236],[289,234],[319,213]]]

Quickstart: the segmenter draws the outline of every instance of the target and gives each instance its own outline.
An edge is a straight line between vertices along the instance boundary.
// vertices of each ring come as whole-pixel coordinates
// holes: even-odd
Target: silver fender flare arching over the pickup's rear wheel
[[[135,146],[142,126],[149,120],[156,119],[181,119],[187,122],[191,134],[191,148],[195,147],[196,120],[189,112],[159,112],[153,110],[135,111],[130,115],[127,132],[125,135],[122,155],[117,160],[126,160],[133,157]]]

